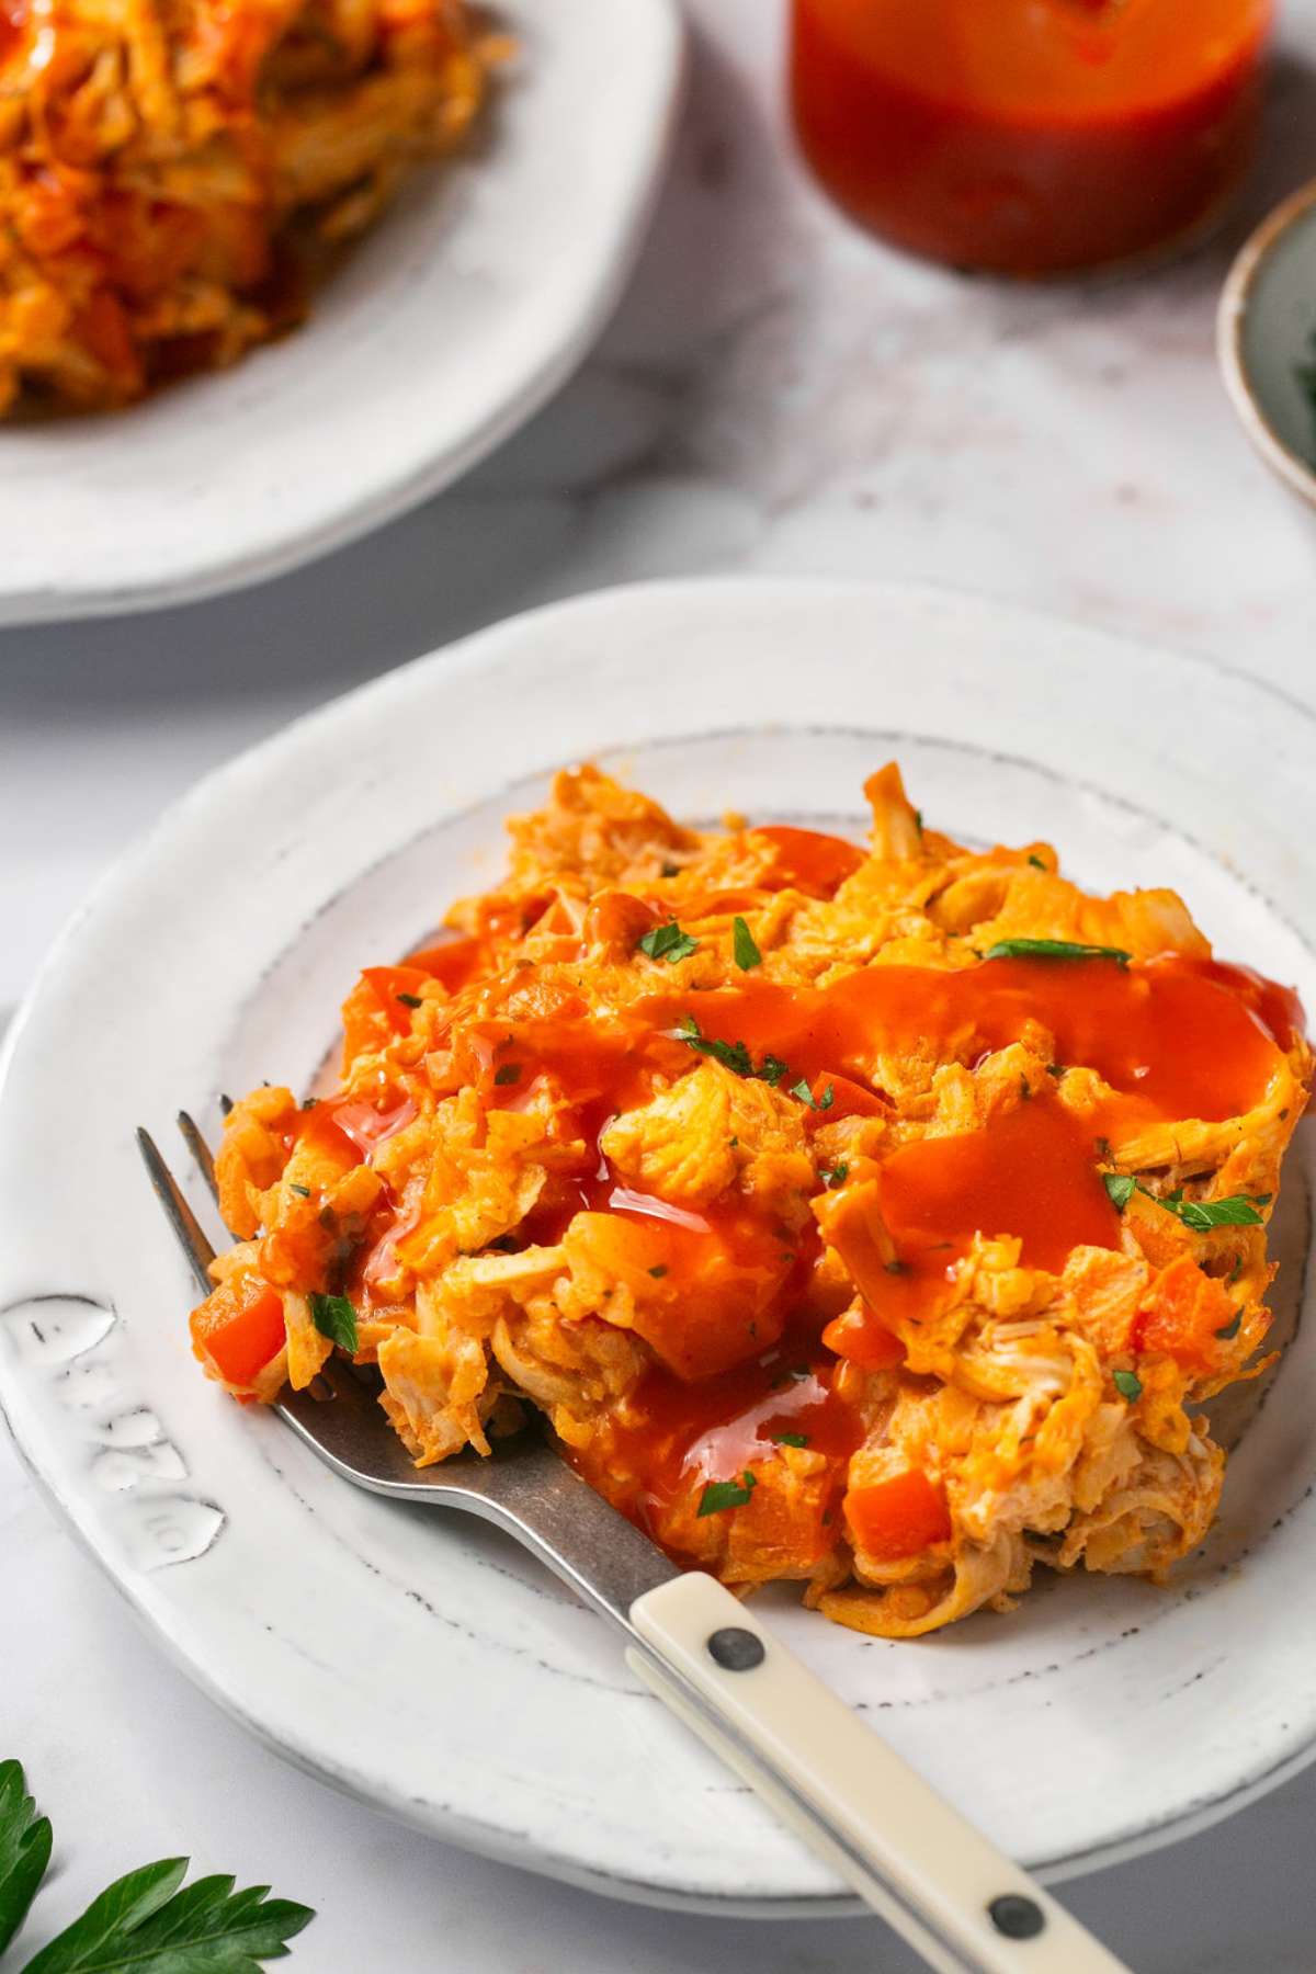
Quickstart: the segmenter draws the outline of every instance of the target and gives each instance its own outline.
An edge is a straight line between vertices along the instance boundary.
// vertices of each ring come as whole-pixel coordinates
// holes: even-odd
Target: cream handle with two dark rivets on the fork
[[[929,1966],[941,1974],[1123,1968],[712,1577],[691,1571],[645,1591],[631,1625],[685,1684],[631,1650],[653,1692]]]

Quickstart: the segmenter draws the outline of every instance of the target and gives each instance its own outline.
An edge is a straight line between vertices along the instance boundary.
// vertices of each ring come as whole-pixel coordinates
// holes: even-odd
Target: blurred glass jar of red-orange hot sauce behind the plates
[[[1044,276],[1194,241],[1245,172],[1275,0],[793,0],[791,109],[858,221]]]

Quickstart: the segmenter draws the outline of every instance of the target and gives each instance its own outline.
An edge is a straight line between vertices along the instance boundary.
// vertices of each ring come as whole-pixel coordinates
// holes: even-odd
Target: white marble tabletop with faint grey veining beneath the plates
[[[641,270],[594,361],[521,438],[302,574],[0,638],[0,1007],[107,861],[211,762],[464,630],[604,582],[951,582],[1200,649],[1316,703],[1316,525],[1253,460],[1211,355],[1229,245],[1316,172],[1316,67],[1300,59],[1316,0],[1284,10],[1267,158],[1229,235],[1138,284],[1042,290],[852,233],[785,150],[779,0],[691,14],[691,116]],[[26,1759],[57,1822],[47,1925],[93,1879],[191,1850],[318,1905],[296,1966],[329,1974],[912,1966],[870,1923],[604,1905],[328,1794],[136,1632],[8,1445],[0,1571],[0,1753]],[[1308,1775],[1067,1897],[1144,1974],[1298,1974],[1316,1960],[1314,1814]]]

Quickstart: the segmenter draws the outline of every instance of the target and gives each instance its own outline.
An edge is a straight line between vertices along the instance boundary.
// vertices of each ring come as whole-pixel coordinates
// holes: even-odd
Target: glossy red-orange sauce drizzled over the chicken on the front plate
[[[835,837],[760,835],[777,843],[768,886],[827,896],[862,861]],[[655,922],[665,916],[645,910]],[[647,922],[643,912],[639,922]],[[481,977],[475,942],[410,955],[408,965],[452,989]],[[381,985],[393,991],[393,979]],[[937,1062],[975,1064],[1032,1025],[1052,1034],[1056,1068],[1097,1070],[1113,1098],[1083,1123],[1054,1088],[1034,1090],[983,1131],[894,1151],[878,1173],[876,1214],[852,1216],[833,1236],[866,1303],[858,1325],[835,1321],[835,1305],[815,1293],[821,1238],[813,1220],[787,1230],[744,1196],[698,1212],[677,1208],[637,1190],[602,1153],[600,1137],[618,1111],[643,1103],[655,1078],[693,1066],[696,1050],[679,1032],[691,1015],[702,1038],[742,1042],[756,1068],[768,1056],[785,1062],[781,1090],[803,1080],[821,1100],[831,1086],[833,1101],[809,1109],[807,1123],[886,1109],[884,1056],[917,1048]],[[586,1147],[578,1171],[552,1173],[515,1240],[552,1244],[582,1212],[602,1220],[594,1232],[631,1285],[635,1330],[657,1362],[610,1431],[574,1459],[661,1536],[675,1502],[775,1457],[781,1431],[803,1435],[829,1459],[839,1490],[862,1433],[831,1390],[837,1354],[868,1366],[898,1362],[890,1325],[937,1307],[975,1234],[1016,1236],[1022,1261],[1052,1271],[1075,1246],[1115,1248],[1119,1216],[1101,1184],[1097,1137],[1154,1119],[1249,1109],[1300,1028],[1296,995],[1245,967],[1178,955],[1129,967],[1010,957],[961,971],[876,965],[827,989],[750,975],[734,989],[655,993],[612,1019],[592,1017],[584,1003],[556,1019],[489,1017],[460,1026],[454,1068],[493,1107],[525,1107],[548,1088],[562,1105],[554,1135]],[[316,1115],[312,1129],[341,1131],[369,1157],[371,1129],[379,1141],[408,1121],[410,1107],[379,1115],[375,1127],[343,1101]],[[841,1204],[841,1192],[829,1196],[825,1218]],[[402,1232],[373,1228],[371,1253]],[[361,1281],[361,1269],[353,1273]],[[827,1548],[831,1536],[819,1540]]]

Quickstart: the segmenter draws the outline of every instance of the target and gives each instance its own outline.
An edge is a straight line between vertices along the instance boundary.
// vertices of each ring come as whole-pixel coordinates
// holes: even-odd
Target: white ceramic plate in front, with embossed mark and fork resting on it
[[[0,1092],[0,1394],[51,1496],[182,1664],[316,1775],[602,1891],[718,1909],[839,1887],[509,1542],[333,1480],[187,1354],[191,1285],[132,1125],[306,1082],[369,957],[501,863],[594,756],[687,817],[860,827],[896,754],[937,825],[1178,884],[1316,1005],[1312,717],[1223,667],[923,592],[614,590],[517,618],[211,776],[49,959]],[[1308,1127],[1275,1246],[1292,1317]],[[785,1636],[1006,1850],[1060,1875],[1225,1814],[1316,1737],[1316,1323],[1168,1591],[1044,1581],[914,1644],[769,1599]],[[146,1646],[144,1646],[146,1648]]]

